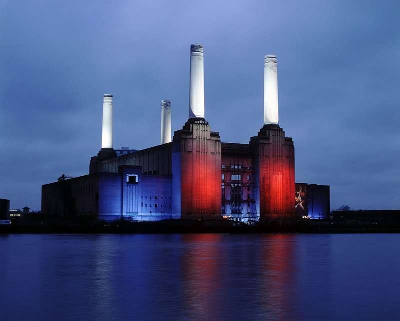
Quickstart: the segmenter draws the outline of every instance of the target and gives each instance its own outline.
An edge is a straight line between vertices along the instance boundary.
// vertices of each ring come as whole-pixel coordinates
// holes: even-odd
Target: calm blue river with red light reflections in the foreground
[[[399,234],[0,235],[1,320],[400,320]]]

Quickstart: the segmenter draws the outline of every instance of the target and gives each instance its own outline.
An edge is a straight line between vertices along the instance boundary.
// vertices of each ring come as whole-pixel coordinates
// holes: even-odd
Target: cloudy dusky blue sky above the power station
[[[142,2],[142,3],[140,3]],[[296,182],[331,208],[400,208],[398,1],[0,1],[0,198],[88,173],[114,95],[114,148],[159,144],[188,117],[189,47],[204,45],[205,119],[223,142],[263,124],[263,57],[278,59],[279,125]]]

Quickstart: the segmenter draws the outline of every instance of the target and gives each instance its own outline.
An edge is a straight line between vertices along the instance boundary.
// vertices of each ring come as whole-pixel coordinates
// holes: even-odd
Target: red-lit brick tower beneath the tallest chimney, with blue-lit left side
[[[221,151],[217,132],[202,118],[189,118],[172,139],[172,195],[175,215],[220,218]]]

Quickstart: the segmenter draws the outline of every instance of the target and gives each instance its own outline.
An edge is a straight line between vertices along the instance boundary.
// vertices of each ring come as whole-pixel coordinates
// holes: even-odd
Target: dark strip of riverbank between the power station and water
[[[331,220],[162,220],[102,222],[89,219],[34,218],[13,220],[0,233],[400,233],[400,222]]]

